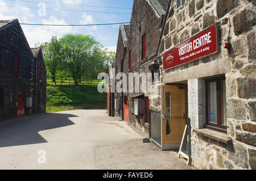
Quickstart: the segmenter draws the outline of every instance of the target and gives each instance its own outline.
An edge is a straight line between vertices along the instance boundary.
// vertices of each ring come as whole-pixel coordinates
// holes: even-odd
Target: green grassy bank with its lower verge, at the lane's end
[[[48,86],[47,112],[75,109],[105,109],[106,93],[97,86]]]

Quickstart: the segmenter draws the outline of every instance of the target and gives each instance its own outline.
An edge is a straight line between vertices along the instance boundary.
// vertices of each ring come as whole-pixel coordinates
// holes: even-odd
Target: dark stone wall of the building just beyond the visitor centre
[[[159,9],[156,8],[156,1],[143,1],[135,0],[133,3],[133,12],[131,14],[131,22],[141,23],[131,23],[129,35],[127,38],[127,53],[125,57],[125,66],[129,65],[129,52],[131,50],[131,69],[125,67],[125,72],[133,73],[149,73],[150,70],[148,66],[152,62],[147,62],[152,60],[156,56],[156,49],[159,42],[160,31],[162,27],[164,10],[162,7]],[[159,6],[158,6],[159,7]],[[163,14],[161,14],[163,12]],[[146,58],[142,60],[142,36],[146,33]],[[140,80],[141,82],[141,80]],[[129,86],[128,86],[129,87]],[[133,87],[135,87],[135,82]],[[130,97],[138,96],[143,94],[140,93],[129,93]],[[129,99],[130,100],[130,99]],[[158,98],[150,99],[150,105],[153,105],[154,102],[157,105]],[[155,105],[155,104],[154,104]],[[156,106],[155,105],[155,106]],[[155,106],[152,106],[153,110],[156,110]],[[157,106],[156,106],[157,107]],[[141,133],[145,137],[149,137],[149,129],[145,127],[144,124],[145,115],[139,119],[137,116],[132,115],[129,105],[129,124],[137,132]]]

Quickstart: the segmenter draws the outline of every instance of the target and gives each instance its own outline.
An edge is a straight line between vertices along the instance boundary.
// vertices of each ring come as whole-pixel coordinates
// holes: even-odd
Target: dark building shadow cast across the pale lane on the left
[[[42,113],[3,121],[0,123],[0,148],[47,142],[38,132],[73,125],[69,117],[77,116],[64,113]]]

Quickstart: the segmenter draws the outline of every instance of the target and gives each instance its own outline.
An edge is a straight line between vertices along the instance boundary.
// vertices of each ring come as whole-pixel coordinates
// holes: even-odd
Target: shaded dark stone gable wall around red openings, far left
[[[18,20],[1,27],[0,39],[0,88],[4,91],[0,121],[17,116],[18,90],[24,91],[25,104],[26,98],[32,98],[32,107],[27,108],[25,105],[24,110],[25,115],[31,115],[35,112],[35,57]],[[14,73],[15,55],[19,60],[18,74]],[[42,72],[46,74],[45,66],[42,66]],[[41,100],[46,103],[46,87],[43,87],[45,93]]]

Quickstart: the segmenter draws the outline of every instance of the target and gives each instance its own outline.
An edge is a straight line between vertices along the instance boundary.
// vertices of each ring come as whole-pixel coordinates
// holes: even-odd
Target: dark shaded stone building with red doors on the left
[[[18,19],[0,21],[0,120],[46,112],[42,49],[27,43]]]

